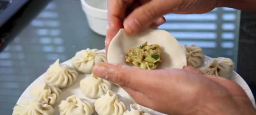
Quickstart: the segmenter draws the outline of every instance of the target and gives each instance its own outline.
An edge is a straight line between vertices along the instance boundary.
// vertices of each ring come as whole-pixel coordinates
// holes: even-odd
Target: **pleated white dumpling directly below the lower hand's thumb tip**
[[[99,98],[111,88],[111,82],[91,74],[80,81],[80,89],[89,98]]]

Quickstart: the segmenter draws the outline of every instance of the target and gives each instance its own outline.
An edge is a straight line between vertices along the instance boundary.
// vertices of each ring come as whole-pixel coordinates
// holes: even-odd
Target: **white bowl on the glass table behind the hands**
[[[108,29],[107,0],[81,0],[81,4],[89,27],[100,35],[106,35]]]

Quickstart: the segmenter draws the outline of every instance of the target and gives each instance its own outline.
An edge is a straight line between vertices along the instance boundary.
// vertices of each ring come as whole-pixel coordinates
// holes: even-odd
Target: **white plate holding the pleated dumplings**
[[[208,61],[210,59],[211,59],[211,57],[208,57],[208,56],[205,57],[205,61]],[[72,66],[71,60],[67,60],[67,61],[63,62],[62,64],[67,64],[69,66]],[[82,80],[85,77],[85,75],[86,74],[79,74],[78,78],[77,78],[77,81],[73,85],[71,85],[67,88],[62,88],[61,89],[61,91],[62,91],[61,92],[61,100],[66,100],[66,98],[68,96],[76,94],[81,99],[87,99],[87,100],[89,100],[93,103],[95,102],[94,99],[91,99],[91,98],[88,98],[88,97],[84,96],[84,94],[82,93],[82,91],[79,88],[80,80]],[[238,83],[244,89],[244,91],[248,95],[250,101],[252,102],[253,106],[255,107],[255,100],[254,100],[254,97],[253,97],[253,93],[250,90],[247,83],[244,81],[244,79],[239,74],[237,74],[235,71],[233,71],[233,76],[231,77],[231,80]],[[22,95],[20,96],[17,103],[22,102],[22,101],[31,100],[32,98],[31,98],[30,93],[29,93],[30,87],[32,86],[32,84],[38,83],[38,82],[44,82],[42,75],[39,76],[33,83],[31,83],[26,88],[26,90],[22,93]],[[121,87],[118,87],[114,84],[112,84],[111,90],[122,96],[122,101],[124,101],[126,109],[130,110],[130,104],[133,104],[135,102],[132,100],[132,98],[129,96],[129,94],[127,94]],[[54,115],[59,115],[59,111],[58,111],[59,103],[57,103],[54,106]],[[146,107],[143,107],[143,108],[146,109],[148,112],[150,112],[152,115],[166,115],[166,114],[154,111],[154,110],[146,108]],[[97,115],[96,112],[93,115]]]

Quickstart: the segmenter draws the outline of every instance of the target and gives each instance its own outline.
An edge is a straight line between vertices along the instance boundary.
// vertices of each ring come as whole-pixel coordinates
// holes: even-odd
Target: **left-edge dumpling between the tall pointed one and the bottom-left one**
[[[35,100],[54,106],[60,101],[61,91],[54,84],[34,84],[30,88],[30,95]]]

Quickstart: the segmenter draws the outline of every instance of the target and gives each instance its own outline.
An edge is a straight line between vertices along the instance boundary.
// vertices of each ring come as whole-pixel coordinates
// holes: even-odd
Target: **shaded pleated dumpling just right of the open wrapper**
[[[203,50],[200,47],[196,45],[183,45],[182,49],[186,54],[188,65],[199,67],[203,64],[205,55],[203,54]]]

